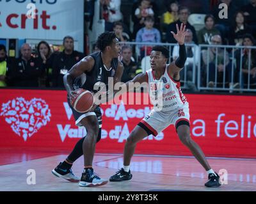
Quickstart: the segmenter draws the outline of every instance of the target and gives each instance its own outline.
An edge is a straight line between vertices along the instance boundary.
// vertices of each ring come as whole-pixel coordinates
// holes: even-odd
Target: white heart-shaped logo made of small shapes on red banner
[[[26,141],[42,126],[50,122],[51,110],[43,99],[15,98],[2,104],[1,116],[10,124],[12,130]]]

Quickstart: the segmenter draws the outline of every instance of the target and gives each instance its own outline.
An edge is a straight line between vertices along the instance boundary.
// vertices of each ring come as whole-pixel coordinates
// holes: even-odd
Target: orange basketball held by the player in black
[[[79,113],[88,112],[93,106],[93,94],[90,91],[79,89],[76,97],[72,99],[71,105]]]

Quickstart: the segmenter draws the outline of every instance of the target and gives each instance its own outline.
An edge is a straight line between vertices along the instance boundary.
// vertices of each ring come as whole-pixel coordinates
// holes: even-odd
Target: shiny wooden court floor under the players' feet
[[[256,191],[256,159],[208,158],[215,171],[227,170],[228,184],[207,188],[204,187],[207,175],[194,157],[135,155],[131,163],[132,180],[79,187],[51,173],[66,156],[0,163],[0,191]],[[93,167],[100,177],[108,179],[122,168],[122,163],[121,154],[96,154]],[[29,185],[27,171],[31,169],[36,173],[35,184]],[[83,158],[74,163],[72,170],[81,177]]]

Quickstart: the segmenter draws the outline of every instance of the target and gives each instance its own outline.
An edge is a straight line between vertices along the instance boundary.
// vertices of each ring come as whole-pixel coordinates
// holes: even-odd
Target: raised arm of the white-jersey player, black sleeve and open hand
[[[176,24],[176,28],[177,34],[175,34],[173,31],[171,31],[171,33],[173,34],[173,38],[175,38],[175,40],[177,40],[179,43],[179,57],[176,59],[176,61],[170,63],[168,66],[168,73],[173,79],[179,80],[179,72],[184,67],[187,59],[186,47],[184,45],[187,32],[186,25],[181,24],[179,29],[179,26]]]

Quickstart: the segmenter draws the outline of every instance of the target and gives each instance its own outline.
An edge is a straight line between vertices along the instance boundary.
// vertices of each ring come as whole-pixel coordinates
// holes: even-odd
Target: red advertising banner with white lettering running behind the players
[[[67,92],[1,89],[0,148],[72,150],[86,135],[77,128]],[[139,95],[134,96],[137,98]],[[142,94],[147,98],[147,94]],[[186,94],[191,137],[206,156],[256,158],[256,97]],[[122,153],[127,136],[149,105],[102,105],[98,153]],[[173,126],[138,143],[136,154],[186,155]]]

